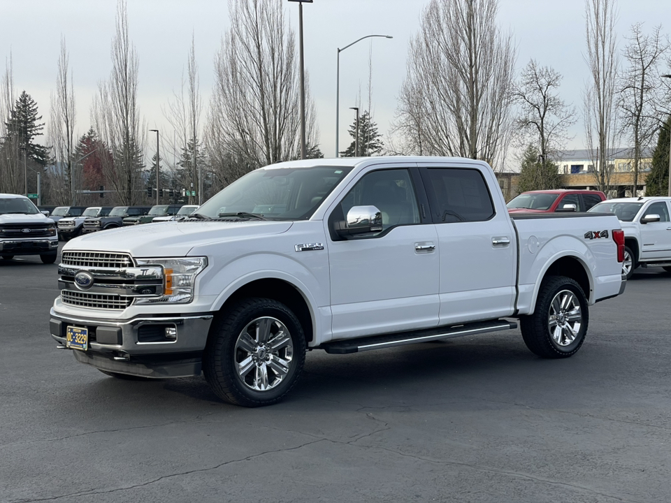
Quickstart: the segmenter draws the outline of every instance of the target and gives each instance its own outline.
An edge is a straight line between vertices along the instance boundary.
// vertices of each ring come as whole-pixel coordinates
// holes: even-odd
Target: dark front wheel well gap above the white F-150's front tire
[[[244,286],[240,286],[240,288],[236,290],[226,302],[224,302],[222,309],[226,307],[226,305],[230,305],[231,302],[236,302],[237,300],[247,297],[270,298],[277,300],[277,302],[282,302],[282,304],[289,307],[289,309],[296,314],[296,318],[301,322],[305,341],[312,342],[314,334],[312,333],[312,316],[310,315],[308,302],[305,302],[305,298],[303,298],[301,292],[299,292],[295,286],[282,279],[257,279]]]

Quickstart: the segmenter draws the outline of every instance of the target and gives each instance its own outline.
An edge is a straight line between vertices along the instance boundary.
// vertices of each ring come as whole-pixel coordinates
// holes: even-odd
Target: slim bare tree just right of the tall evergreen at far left
[[[75,151],[75,96],[72,71],[69,70],[65,39],[61,38],[61,54],[58,59],[56,93],[51,95],[50,138],[56,161],[55,182],[59,204],[74,204],[75,183],[73,159]]]

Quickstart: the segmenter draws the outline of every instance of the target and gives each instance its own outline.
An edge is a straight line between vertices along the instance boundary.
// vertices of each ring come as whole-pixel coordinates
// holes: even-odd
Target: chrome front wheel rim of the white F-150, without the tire
[[[291,334],[277,318],[254,319],[238,335],[236,372],[247,388],[269,391],[277,387],[287,377],[293,359]]]

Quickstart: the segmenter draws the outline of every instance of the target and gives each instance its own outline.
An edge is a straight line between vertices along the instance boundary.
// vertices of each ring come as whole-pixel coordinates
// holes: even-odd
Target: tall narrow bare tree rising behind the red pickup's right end
[[[610,191],[614,147],[618,138],[616,81],[616,8],[614,0],[585,1],[585,34],[590,82],[584,92],[587,148],[595,166],[596,186]]]

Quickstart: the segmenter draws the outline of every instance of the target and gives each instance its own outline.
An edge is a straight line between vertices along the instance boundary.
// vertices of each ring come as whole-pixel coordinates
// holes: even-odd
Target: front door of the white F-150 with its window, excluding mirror
[[[410,169],[368,171],[331,211],[334,340],[438,323],[438,238],[435,226],[421,216]],[[361,205],[382,212],[382,231],[347,239],[335,235],[333,222]]]

